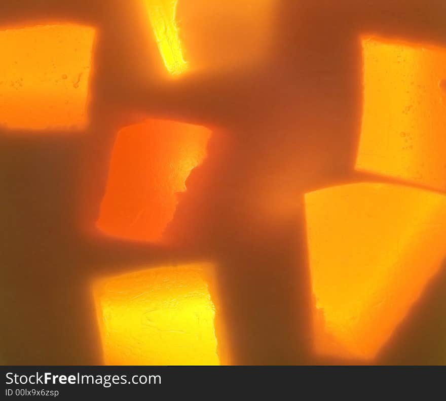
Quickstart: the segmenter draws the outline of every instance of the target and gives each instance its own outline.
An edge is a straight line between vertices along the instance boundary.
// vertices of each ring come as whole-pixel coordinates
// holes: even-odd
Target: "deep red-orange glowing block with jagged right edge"
[[[209,130],[148,119],[117,136],[97,227],[122,238],[158,241],[172,220],[177,192],[206,154]]]

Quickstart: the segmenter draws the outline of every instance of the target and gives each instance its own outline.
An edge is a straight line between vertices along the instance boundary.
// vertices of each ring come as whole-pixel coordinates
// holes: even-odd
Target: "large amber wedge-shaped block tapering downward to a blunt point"
[[[305,204],[316,350],[373,358],[444,259],[446,197],[361,183]]]

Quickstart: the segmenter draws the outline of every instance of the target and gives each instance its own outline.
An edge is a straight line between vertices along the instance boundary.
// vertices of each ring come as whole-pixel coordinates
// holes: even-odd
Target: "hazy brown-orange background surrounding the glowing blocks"
[[[166,77],[138,0],[0,4],[2,28],[69,21],[98,30],[89,129],[0,133],[5,364],[100,364],[92,277],[136,262],[203,258],[220,266],[217,334],[228,328],[219,344],[222,363],[229,354],[233,364],[361,363],[312,353],[302,194],[374,179],[353,171],[361,118],[359,36],[446,46],[446,4],[277,0],[266,54],[228,66],[212,60],[230,59],[233,47],[249,61],[249,48],[231,46],[249,36],[244,20],[235,24],[213,12],[212,21],[203,12],[197,21],[191,12],[224,10],[227,3],[179,1],[180,27],[193,32],[183,38],[185,57],[195,54],[210,67],[177,81]],[[169,227],[171,248],[114,241],[94,230],[114,135],[147,116],[214,132],[208,162],[191,175]],[[442,269],[374,363],[445,362],[445,288]]]

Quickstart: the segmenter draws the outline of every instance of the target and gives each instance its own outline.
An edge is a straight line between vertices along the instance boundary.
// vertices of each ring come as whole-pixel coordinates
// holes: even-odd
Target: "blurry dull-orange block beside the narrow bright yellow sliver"
[[[272,56],[279,3],[180,0],[176,15],[189,69],[234,72],[258,67]]]

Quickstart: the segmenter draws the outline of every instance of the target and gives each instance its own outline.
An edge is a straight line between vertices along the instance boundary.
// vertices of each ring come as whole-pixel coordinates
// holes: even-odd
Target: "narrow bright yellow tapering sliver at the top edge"
[[[163,58],[171,74],[180,74],[188,68],[184,61],[178,28],[175,22],[177,0],[146,0],[148,15]]]

